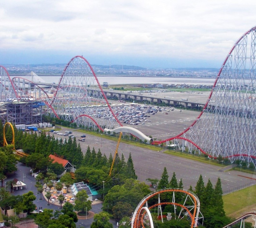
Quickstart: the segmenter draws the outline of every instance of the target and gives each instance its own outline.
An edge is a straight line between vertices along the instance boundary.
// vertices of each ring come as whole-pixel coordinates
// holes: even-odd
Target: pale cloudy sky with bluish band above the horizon
[[[220,68],[256,25],[252,0],[8,0],[0,65],[68,63]]]

